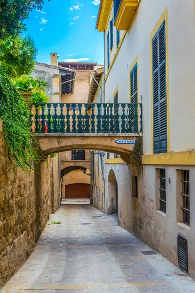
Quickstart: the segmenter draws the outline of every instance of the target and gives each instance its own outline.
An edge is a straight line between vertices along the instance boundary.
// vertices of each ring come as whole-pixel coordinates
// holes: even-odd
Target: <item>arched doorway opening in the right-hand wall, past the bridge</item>
[[[107,214],[118,214],[118,186],[115,172],[113,169],[108,174],[108,198],[107,198]]]

